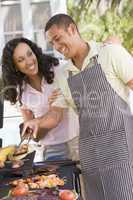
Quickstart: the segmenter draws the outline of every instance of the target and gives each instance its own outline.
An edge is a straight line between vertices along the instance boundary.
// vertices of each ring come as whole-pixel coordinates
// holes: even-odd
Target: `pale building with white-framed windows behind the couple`
[[[66,0],[0,0],[0,56],[4,44],[20,36],[35,41],[45,52],[51,53],[44,27],[56,13],[66,13]]]

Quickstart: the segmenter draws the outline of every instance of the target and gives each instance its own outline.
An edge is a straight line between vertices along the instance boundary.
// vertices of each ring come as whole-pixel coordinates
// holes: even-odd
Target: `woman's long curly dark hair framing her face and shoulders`
[[[39,74],[47,83],[54,80],[54,66],[59,64],[57,58],[43,54],[42,49],[34,42],[26,38],[15,38],[7,42],[2,54],[2,78],[4,83],[4,98],[15,104],[17,100],[21,103],[22,84],[27,81],[27,77],[20,71],[16,71],[13,61],[13,53],[19,43],[26,43],[37,57]]]

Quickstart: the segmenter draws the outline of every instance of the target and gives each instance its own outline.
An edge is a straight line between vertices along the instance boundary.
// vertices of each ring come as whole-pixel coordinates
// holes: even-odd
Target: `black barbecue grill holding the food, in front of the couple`
[[[61,189],[75,190],[81,199],[80,169],[77,167],[78,161],[44,161],[33,163],[35,152],[30,153],[24,158],[24,166],[19,169],[11,169],[10,165],[0,169],[0,199],[7,195],[11,186],[9,182],[19,178],[35,176],[36,174],[56,173],[60,178],[65,178],[66,182]]]

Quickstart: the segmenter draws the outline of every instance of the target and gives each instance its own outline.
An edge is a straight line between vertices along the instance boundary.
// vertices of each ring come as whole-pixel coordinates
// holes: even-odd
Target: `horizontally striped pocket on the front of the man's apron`
[[[80,137],[80,160],[84,169],[97,170],[129,159],[124,130],[88,135]]]

